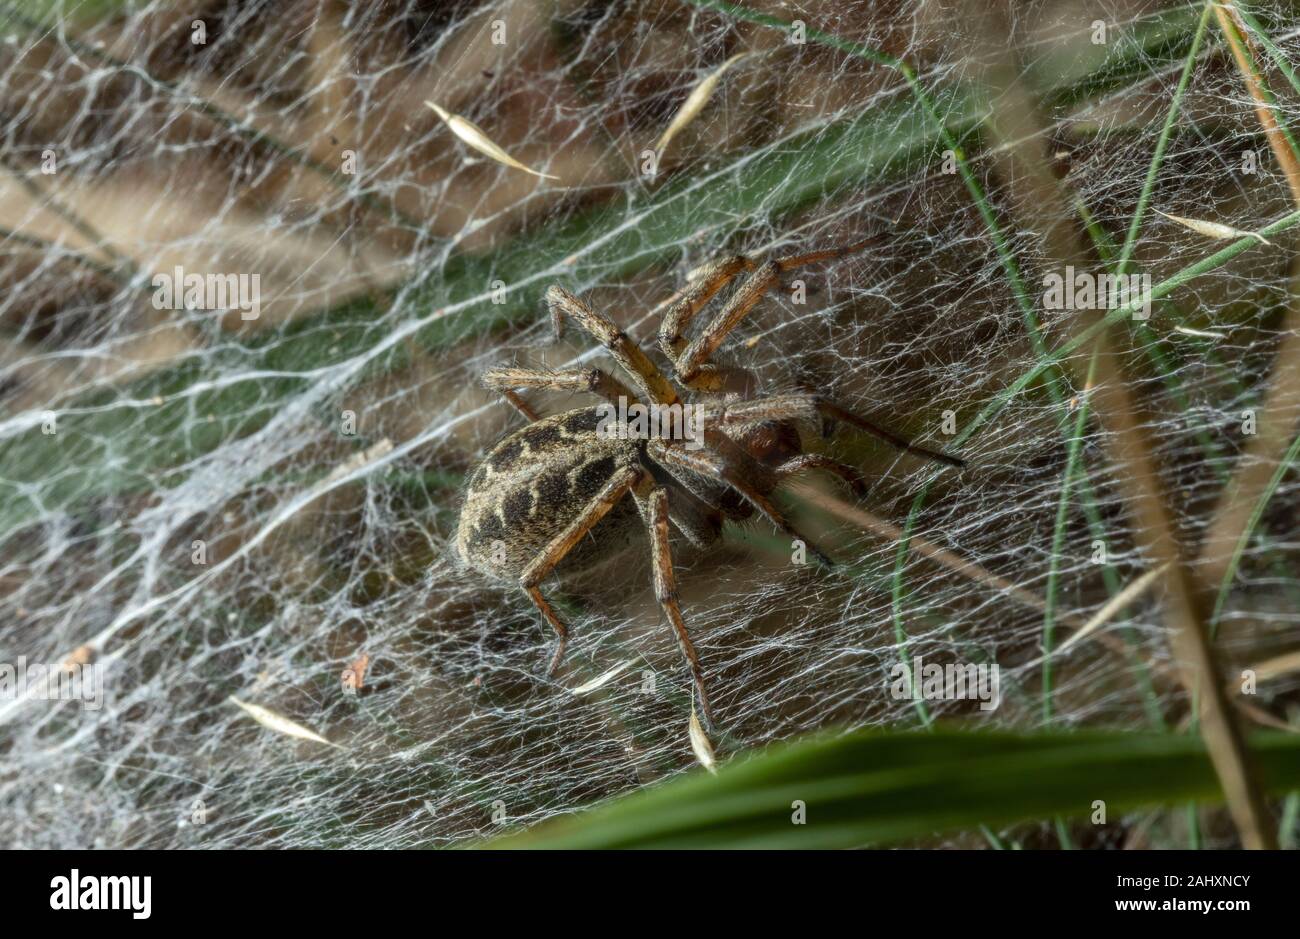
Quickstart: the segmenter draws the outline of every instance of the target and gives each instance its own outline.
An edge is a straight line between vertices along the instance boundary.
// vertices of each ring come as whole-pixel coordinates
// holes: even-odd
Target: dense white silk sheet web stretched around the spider
[[[1294,61],[1294,9],[1248,9]],[[1228,480],[1264,468],[1268,492],[1238,497],[1266,494],[1216,648],[1226,674],[1288,652],[1294,411],[1280,447],[1243,428],[1297,368],[1295,203],[1201,10],[0,7],[0,662],[90,662],[105,680],[99,710],[0,701],[4,843],[446,845],[696,766],[646,545],[547,587],[572,628],[555,679],[526,598],[455,559],[464,479],[521,425],[478,375],[602,360],[577,330],[551,343],[550,284],[658,356],[659,304],[710,259],[868,237],[788,274],[722,358],[764,393],[827,391],[968,467],[806,428],[810,450],[871,483],[858,501],[814,473],[781,497],[835,571],[793,563],[762,522],[706,550],[675,542],[719,757],[942,719],[1176,727],[1187,704],[1158,593],[1044,668],[1045,648],[1149,563],[1113,427],[1091,410],[1092,345],[1004,395],[1083,317],[1044,308],[1065,259],[1043,176],[1078,209],[1093,263],[1124,252],[1141,202],[1130,269],[1156,285],[1235,243],[1167,216],[1280,224],[1115,336],[1192,555]],[[777,21],[802,22],[802,42]],[[1253,48],[1295,125],[1300,99]],[[558,178],[486,156],[425,101]],[[153,277],[177,267],[257,274],[256,319],[157,308]],[[528,397],[547,412],[586,402]],[[997,663],[1000,706],[893,696],[892,668],[918,657]],[[1282,670],[1252,704],[1286,721],[1297,687]],[[1184,843],[1178,818],[1154,818],[1134,828]],[[1022,836],[1054,844],[1046,828]]]

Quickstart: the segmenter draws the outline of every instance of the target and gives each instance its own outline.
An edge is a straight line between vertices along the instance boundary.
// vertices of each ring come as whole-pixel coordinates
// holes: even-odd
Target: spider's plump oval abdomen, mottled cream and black
[[[640,443],[597,434],[595,407],[545,417],[516,430],[489,453],[469,476],[460,510],[456,550],[465,563],[498,577],[515,579],[576,519],[621,466],[636,466]],[[624,499],[592,536],[566,558],[581,567],[598,544],[616,548],[637,520]]]

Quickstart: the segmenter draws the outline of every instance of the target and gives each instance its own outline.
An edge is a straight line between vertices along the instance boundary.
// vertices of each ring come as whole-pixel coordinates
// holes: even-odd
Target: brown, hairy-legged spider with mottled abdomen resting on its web
[[[671,302],[659,325],[659,349],[671,363],[681,391],[607,316],[558,285],[546,291],[556,338],[564,319],[575,320],[604,347],[634,391],[601,368],[491,368],[484,373],[484,385],[500,391],[529,425],[499,441],[471,475],[456,550],[468,566],[517,583],[555,629],[558,645],[547,675],[559,668],[568,628],[542,596],[540,584],[562,561],[566,570],[590,567],[630,544],[644,528],[650,537],[655,598],[690,668],[699,713],[706,726],[712,726],[699,655],[677,603],[670,523],[692,544],[706,546],[720,537],[724,519],[746,519],[757,510],[831,564],[777,511],[771,502],[772,492],[807,469],[829,471],[859,496],[866,493],[866,483],[850,466],[802,453],[797,427],[802,421],[822,421],[827,434],[836,423],[849,424],[901,450],[953,467],[965,466],[956,456],[914,446],[820,395],[754,397],[754,381],[746,371],[710,362],[727,334],[783,273],[841,258],[867,243],[766,261],[737,255],[706,267]],[[748,277],[688,342],[684,333],[690,321],[741,273]],[[540,417],[516,393],[524,388],[589,391],[608,404]],[[602,415],[620,398],[624,403],[671,407],[682,403],[684,397],[706,408],[703,445],[697,443],[697,449],[663,436],[623,440],[602,432],[607,430]]]

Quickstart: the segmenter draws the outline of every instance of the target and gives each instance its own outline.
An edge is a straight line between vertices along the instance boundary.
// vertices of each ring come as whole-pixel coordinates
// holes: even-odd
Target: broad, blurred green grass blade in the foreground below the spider
[[[1270,789],[1300,787],[1300,737],[1253,744]],[[1150,804],[1222,799],[1193,736],[1123,732],[855,731],[780,744],[494,848],[854,848],[1030,819],[1114,823]],[[793,813],[806,813],[794,823]]]

